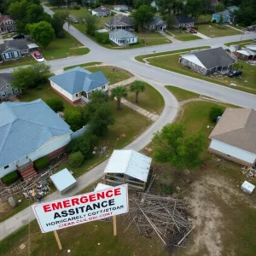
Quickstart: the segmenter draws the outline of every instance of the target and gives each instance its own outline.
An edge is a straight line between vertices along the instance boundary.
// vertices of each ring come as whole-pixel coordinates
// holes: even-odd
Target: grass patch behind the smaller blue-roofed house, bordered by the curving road
[[[128,72],[127,70],[114,67],[114,66],[99,66],[99,67],[88,67],[86,68],[90,72],[102,71],[105,74],[107,79],[109,80],[109,84],[116,84],[120,81],[124,81],[127,79],[131,79],[133,74]]]

